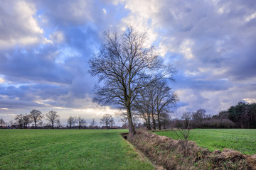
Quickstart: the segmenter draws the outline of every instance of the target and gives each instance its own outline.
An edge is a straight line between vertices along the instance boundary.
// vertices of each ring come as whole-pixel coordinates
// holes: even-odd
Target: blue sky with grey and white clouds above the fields
[[[103,33],[148,30],[176,68],[174,113],[215,115],[256,102],[255,0],[0,0],[0,118],[33,109],[99,120],[117,112],[92,102],[88,60]],[[99,123],[98,123],[99,124]]]

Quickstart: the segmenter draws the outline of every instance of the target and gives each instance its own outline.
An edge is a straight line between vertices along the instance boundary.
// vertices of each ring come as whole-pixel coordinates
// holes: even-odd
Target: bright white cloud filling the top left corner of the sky
[[[36,21],[36,7],[28,1],[2,1],[0,6],[0,48],[48,43]]]

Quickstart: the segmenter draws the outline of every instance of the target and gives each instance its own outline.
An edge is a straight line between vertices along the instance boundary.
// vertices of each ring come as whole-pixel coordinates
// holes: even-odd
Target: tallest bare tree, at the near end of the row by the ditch
[[[174,71],[172,67],[162,67],[161,58],[146,40],[146,32],[138,33],[132,27],[122,35],[105,33],[102,49],[90,59],[90,73],[103,81],[95,86],[94,101],[102,105],[114,103],[124,108],[130,135],[135,134],[132,103],[138,92],[151,84],[151,80],[172,77]]]

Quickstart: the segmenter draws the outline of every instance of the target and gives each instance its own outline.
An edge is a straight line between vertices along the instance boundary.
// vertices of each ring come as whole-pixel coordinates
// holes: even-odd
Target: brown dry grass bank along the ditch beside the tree
[[[198,147],[196,142],[189,141],[186,153],[181,140],[171,140],[145,131],[137,132],[128,140],[154,164],[166,169],[256,169],[255,155],[245,155],[231,149],[209,152],[206,148]]]

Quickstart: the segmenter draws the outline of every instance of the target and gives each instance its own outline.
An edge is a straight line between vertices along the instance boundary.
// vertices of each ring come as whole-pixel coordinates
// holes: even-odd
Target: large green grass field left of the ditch
[[[0,169],[154,169],[121,132],[0,130]]]

